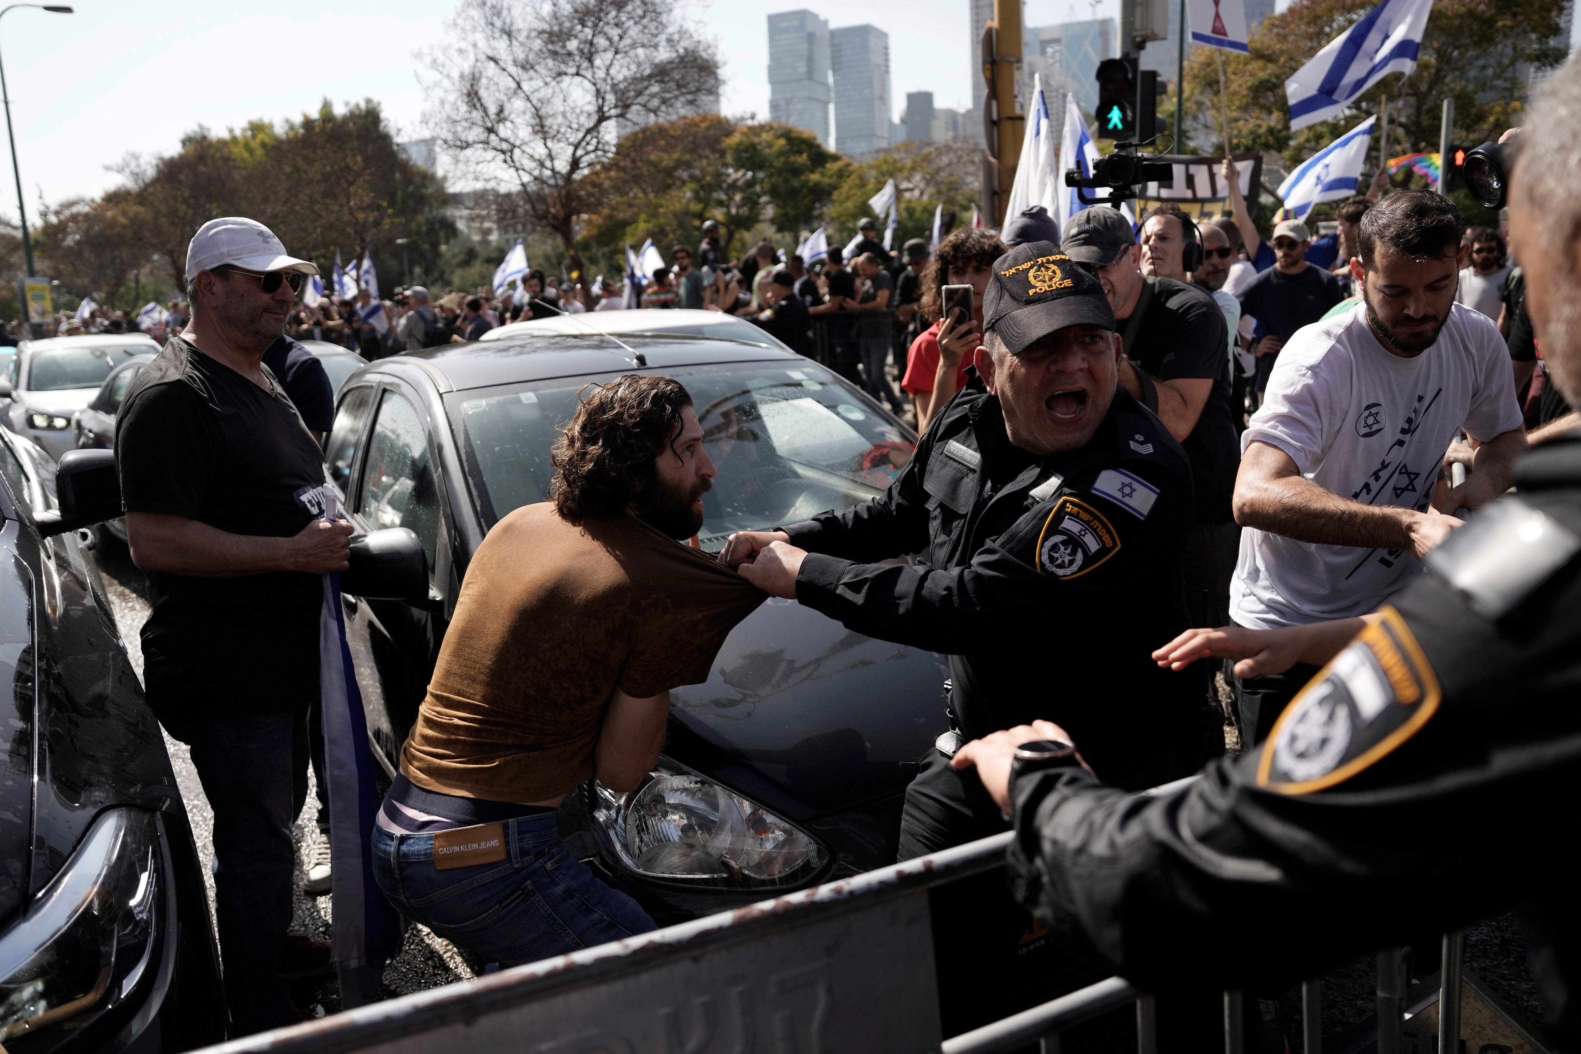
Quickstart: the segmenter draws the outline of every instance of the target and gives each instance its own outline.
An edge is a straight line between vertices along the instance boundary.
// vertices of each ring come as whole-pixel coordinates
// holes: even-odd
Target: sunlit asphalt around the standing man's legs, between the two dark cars
[[[126,653],[131,664],[142,676],[142,645],[138,631],[149,618],[147,586],[139,572],[125,556],[96,553],[100,572],[104,577],[104,588],[115,613],[115,624],[120,627],[122,640],[126,642]],[[180,785],[182,798],[187,803],[187,815],[191,819],[193,836],[198,839],[198,858],[213,860],[213,811],[202,793],[198,771],[193,768],[187,746],[169,735],[164,746],[171,754],[171,768],[175,770],[175,782]],[[330,907],[329,896],[307,896],[300,891],[305,879],[307,858],[313,841],[321,838],[313,823],[315,798],[311,790],[313,774],[308,773],[308,806],[292,826],[297,844],[297,893],[292,912],[291,932],[305,934],[313,940],[329,940]],[[209,912],[213,913],[213,875],[204,869],[204,882],[209,886]],[[479,962],[468,964],[455,945],[436,937],[424,926],[413,924],[406,931],[406,942],[395,959],[384,969],[384,996],[405,996],[421,992],[452,981],[473,977],[473,969],[482,969]],[[334,978],[323,981],[302,981],[292,994],[305,1014],[323,1016],[340,1010],[340,989]]]

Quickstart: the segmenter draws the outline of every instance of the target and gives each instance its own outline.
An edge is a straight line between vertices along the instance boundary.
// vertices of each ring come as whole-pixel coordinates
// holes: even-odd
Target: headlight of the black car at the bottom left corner
[[[153,814],[111,809],[44,891],[0,935],[0,1043],[54,1048],[125,1002],[158,940]]]

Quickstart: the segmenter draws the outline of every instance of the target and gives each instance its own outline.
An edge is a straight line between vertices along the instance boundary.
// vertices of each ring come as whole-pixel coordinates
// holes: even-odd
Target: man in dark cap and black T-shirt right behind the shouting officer
[[[1187,245],[1179,213],[1151,212],[1143,224],[1154,267],[1183,278]],[[1168,240],[1168,248],[1165,248]],[[1104,283],[1126,359],[1119,382],[1151,409],[1190,457],[1197,506],[1181,539],[1181,578],[1192,621],[1230,610],[1230,575],[1241,529],[1230,510],[1240,449],[1230,409],[1228,327],[1213,295],[1184,280],[1143,275],[1130,221],[1108,205],[1070,218],[1064,250]]]

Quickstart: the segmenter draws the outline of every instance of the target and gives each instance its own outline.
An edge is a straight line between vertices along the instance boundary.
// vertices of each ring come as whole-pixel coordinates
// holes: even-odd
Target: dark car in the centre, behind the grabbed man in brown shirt
[[[583,386],[623,373],[672,376],[696,400],[718,466],[694,539],[704,550],[732,531],[882,493],[915,444],[841,378],[759,341],[547,333],[373,362],[340,392],[326,466],[359,529],[411,528],[427,553],[427,597],[376,600],[348,589],[345,599],[368,730],[387,773],[468,561],[503,515],[545,499],[555,425],[569,420]],[[941,656],[768,599],[729,635],[705,684],[672,694],[651,781],[629,798],[590,782],[566,798],[563,825],[582,833],[572,836],[579,855],[659,921],[890,863],[906,784],[949,728],[945,676]],[[637,809],[669,811],[677,822],[628,831]],[[779,852],[738,868],[729,841],[746,825],[770,831]],[[658,831],[680,844],[653,841]]]

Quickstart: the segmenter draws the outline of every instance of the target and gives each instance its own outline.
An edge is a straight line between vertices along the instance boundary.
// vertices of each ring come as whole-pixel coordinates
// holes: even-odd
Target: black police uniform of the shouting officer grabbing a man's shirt
[[[1073,272],[1107,311],[1097,281],[1048,243],[994,267],[1023,250]],[[985,308],[994,295],[990,286]],[[1149,659],[1187,624],[1178,540],[1190,518],[1184,450],[1124,389],[1086,446],[1037,457],[1010,444],[998,397],[972,371],[884,495],[783,529],[809,553],[797,600],[950,656],[960,735],[1058,721],[1097,771],[1141,789],[1206,757],[1200,679]],[[874,563],[904,553],[925,563]],[[975,773],[930,751],[906,793],[901,858],[1002,830]]]

